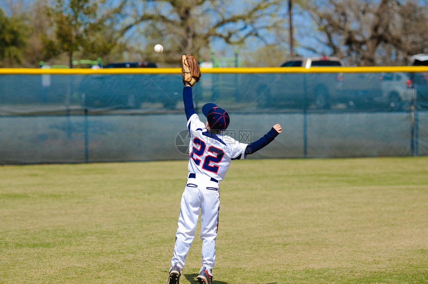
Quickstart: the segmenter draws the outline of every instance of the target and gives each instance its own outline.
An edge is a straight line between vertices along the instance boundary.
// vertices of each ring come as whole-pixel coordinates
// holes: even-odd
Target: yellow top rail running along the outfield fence
[[[381,73],[428,72],[428,66],[375,67],[260,67],[260,68],[201,68],[202,73]],[[88,74],[181,74],[181,68],[0,68],[0,75],[88,75]]]

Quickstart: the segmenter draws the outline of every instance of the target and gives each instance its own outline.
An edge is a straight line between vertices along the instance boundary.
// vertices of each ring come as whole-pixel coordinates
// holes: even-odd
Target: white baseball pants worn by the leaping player
[[[204,175],[189,178],[181,197],[174,255],[171,266],[183,269],[189,249],[195,237],[201,209],[202,267],[214,268],[215,238],[217,236],[218,210],[220,206],[219,184]],[[211,275],[212,276],[212,275]]]

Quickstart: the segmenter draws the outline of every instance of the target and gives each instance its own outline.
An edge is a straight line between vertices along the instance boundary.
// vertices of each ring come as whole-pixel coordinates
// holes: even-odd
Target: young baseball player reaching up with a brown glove
[[[281,133],[281,125],[275,124],[269,132],[251,144],[240,143],[230,136],[221,134],[229,125],[227,112],[207,103],[202,112],[207,122],[200,120],[193,106],[192,87],[199,81],[201,71],[195,57],[182,56],[183,101],[190,131],[189,175],[184,189],[174,254],[171,259],[168,284],[179,284],[186,256],[195,237],[201,210],[202,267],[197,277],[199,284],[211,284],[215,260],[215,238],[217,236],[218,210],[220,205],[219,181],[224,179],[232,160],[245,159]]]

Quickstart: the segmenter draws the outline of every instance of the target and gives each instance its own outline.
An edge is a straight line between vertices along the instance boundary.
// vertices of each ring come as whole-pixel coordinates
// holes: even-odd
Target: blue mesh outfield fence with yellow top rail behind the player
[[[428,155],[427,67],[203,69],[252,158]],[[0,164],[185,160],[181,69],[0,69]],[[202,115],[202,114],[201,114]]]

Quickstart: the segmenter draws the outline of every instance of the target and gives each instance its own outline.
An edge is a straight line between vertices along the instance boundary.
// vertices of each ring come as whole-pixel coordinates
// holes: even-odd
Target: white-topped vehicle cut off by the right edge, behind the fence
[[[422,53],[412,56],[410,65],[428,66],[428,54]],[[413,88],[415,88],[417,107],[428,109],[428,72],[411,73],[410,76]]]

